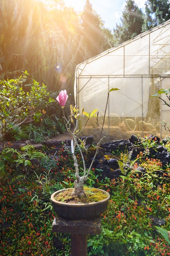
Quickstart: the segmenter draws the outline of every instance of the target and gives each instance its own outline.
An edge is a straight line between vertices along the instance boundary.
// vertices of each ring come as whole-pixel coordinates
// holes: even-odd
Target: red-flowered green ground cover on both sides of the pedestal
[[[148,157],[148,151],[157,146],[157,142],[149,143],[145,140],[147,150],[136,159],[130,159],[128,152],[110,152],[118,157],[122,171],[116,179],[102,179],[102,170],[92,168],[87,185],[109,191],[111,199],[102,215],[102,233],[88,236],[88,256],[170,255],[170,245],[155,228],[161,221],[161,227],[170,230],[170,166],[154,155]],[[168,142],[164,146],[168,148]],[[0,172],[2,256],[70,254],[70,234],[51,232],[50,195],[73,186],[74,162],[64,144],[57,154],[49,154],[47,148],[43,153],[45,157],[31,165],[13,151],[10,157],[9,153],[1,155],[5,163],[5,171]],[[81,157],[78,161],[81,166]]]

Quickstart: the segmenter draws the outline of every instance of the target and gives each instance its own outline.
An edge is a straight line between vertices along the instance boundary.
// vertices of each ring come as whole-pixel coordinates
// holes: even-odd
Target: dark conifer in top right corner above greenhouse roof
[[[145,2],[145,17],[142,31],[148,31],[169,19],[169,0],[147,0]]]

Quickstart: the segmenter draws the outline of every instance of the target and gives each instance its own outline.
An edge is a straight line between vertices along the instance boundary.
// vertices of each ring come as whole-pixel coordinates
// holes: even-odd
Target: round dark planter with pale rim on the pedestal
[[[107,198],[104,200],[87,203],[87,204],[74,204],[74,203],[64,203],[55,200],[55,196],[64,191],[65,189],[61,189],[59,191],[54,192],[51,195],[52,206],[54,211],[62,218],[76,220],[76,219],[95,219],[101,216],[101,214],[107,210],[108,202],[110,199],[110,195],[107,191],[98,189],[107,195]]]

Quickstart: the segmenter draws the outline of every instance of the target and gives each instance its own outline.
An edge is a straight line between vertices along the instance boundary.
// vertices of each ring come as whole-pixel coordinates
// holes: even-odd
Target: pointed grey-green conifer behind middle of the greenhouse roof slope
[[[126,0],[126,5],[122,12],[120,25],[116,24],[113,29],[113,37],[116,45],[123,43],[142,32],[143,13],[133,0]]]

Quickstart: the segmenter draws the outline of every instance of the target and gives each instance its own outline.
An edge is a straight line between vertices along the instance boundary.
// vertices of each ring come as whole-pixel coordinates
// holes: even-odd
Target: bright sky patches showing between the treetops
[[[86,0],[64,0],[65,5],[74,7],[75,11],[83,11]],[[89,0],[92,9],[105,21],[105,28],[110,29],[116,27],[116,23],[120,24],[120,17],[124,9],[124,0]],[[144,3],[146,0],[135,0],[139,8],[144,11]]]

